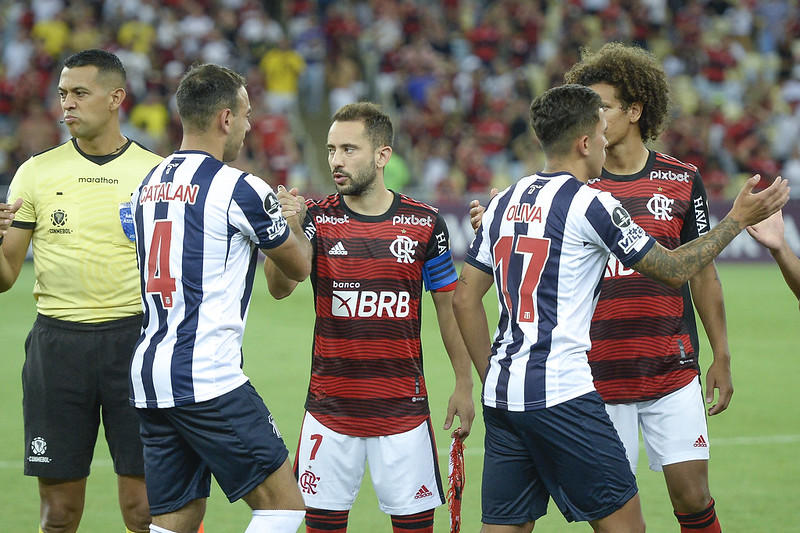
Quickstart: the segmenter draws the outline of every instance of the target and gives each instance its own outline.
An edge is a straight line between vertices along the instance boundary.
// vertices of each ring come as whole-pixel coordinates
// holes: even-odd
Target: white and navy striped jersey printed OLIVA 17
[[[466,257],[494,276],[500,308],[484,405],[532,411],[594,390],[586,352],[609,252],[631,266],[654,243],[571,174],[528,176],[495,196]]]

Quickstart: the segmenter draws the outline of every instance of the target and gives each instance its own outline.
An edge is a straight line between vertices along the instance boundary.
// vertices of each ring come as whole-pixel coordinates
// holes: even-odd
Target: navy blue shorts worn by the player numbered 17
[[[598,520],[638,491],[596,392],[536,411],[484,406],[483,419],[485,524],[536,520],[550,497],[569,522]]]

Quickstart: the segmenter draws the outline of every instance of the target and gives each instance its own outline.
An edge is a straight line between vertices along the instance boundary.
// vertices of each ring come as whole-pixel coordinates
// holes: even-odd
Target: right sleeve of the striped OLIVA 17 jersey
[[[586,221],[600,239],[598,244],[629,268],[638,263],[656,242],[608,192],[598,192],[589,202]]]

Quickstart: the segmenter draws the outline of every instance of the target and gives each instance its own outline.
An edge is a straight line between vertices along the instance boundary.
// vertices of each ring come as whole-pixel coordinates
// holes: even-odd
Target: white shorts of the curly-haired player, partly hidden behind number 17
[[[606,404],[606,411],[625,445],[631,470],[639,462],[639,428],[650,470],[685,461],[708,460],[708,424],[700,378],[663,398]]]

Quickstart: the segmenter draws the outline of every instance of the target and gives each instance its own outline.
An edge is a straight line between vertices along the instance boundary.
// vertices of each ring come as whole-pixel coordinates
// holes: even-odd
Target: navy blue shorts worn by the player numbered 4
[[[234,502],[289,456],[269,409],[250,382],[205,402],[136,412],[153,515],[207,498],[211,474]]]

